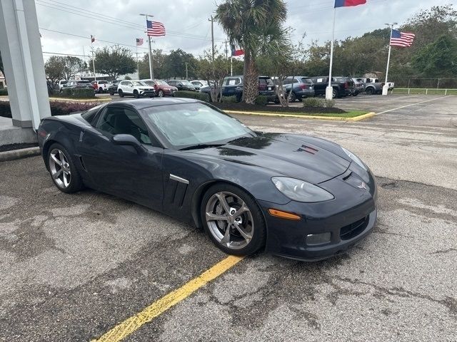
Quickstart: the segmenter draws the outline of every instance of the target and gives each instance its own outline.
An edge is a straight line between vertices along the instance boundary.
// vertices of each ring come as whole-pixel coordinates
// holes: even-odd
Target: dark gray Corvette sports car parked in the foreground
[[[196,100],[109,103],[42,120],[56,187],[84,186],[203,227],[217,247],[301,260],[342,252],[371,232],[376,181],[333,142],[260,133]]]

